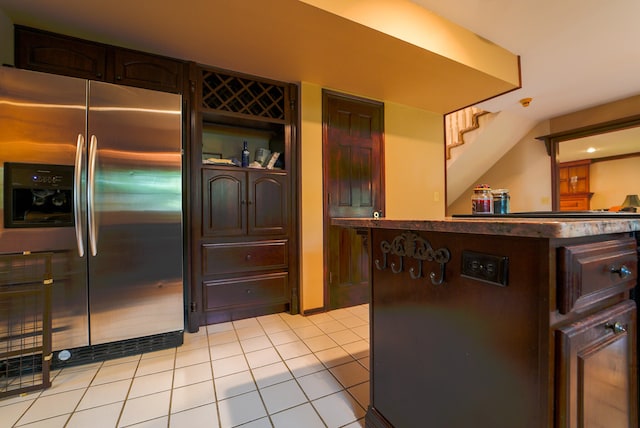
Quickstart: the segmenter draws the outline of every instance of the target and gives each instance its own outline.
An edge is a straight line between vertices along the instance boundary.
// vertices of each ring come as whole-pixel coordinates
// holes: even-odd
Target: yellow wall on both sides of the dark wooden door
[[[324,306],[322,219],[322,87],[301,85],[301,310]],[[385,103],[385,216],[444,215],[442,115]]]

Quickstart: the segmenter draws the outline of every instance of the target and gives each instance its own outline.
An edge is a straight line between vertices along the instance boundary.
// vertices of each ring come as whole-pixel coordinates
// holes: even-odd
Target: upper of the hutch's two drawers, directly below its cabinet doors
[[[202,274],[284,269],[289,265],[288,254],[289,243],[286,239],[205,244],[202,247]]]

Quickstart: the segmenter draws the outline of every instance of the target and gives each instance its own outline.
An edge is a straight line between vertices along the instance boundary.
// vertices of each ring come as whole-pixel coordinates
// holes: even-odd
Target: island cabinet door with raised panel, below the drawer
[[[636,307],[619,303],[556,331],[556,426],[636,428]]]

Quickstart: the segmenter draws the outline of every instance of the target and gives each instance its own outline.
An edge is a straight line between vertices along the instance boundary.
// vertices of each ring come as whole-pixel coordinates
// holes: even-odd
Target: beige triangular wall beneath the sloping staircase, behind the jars
[[[473,187],[479,183],[509,189],[511,212],[551,210],[551,158],[544,143],[535,138],[547,134],[548,126],[544,121],[529,131],[478,183],[451,204],[449,214],[471,214]]]

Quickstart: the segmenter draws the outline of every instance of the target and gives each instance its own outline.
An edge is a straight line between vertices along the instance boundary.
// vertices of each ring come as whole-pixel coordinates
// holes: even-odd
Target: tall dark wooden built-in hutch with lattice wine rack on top
[[[297,86],[195,64],[190,79],[191,324],[297,313]]]

